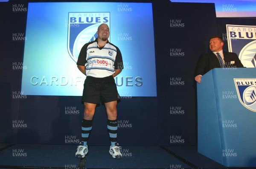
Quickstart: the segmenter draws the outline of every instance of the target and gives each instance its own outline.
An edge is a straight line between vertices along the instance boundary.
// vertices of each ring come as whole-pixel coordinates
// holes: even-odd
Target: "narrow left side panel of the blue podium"
[[[198,152],[223,163],[221,152],[221,140],[218,126],[218,114],[214,92],[212,71],[202,77],[198,84]],[[207,80],[204,80],[207,79]]]

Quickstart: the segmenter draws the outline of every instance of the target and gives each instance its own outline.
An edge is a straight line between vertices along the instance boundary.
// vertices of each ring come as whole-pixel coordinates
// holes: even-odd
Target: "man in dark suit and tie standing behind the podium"
[[[195,81],[201,82],[201,77],[214,68],[243,68],[236,53],[225,52],[223,40],[220,36],[213,36],[209,42],[212,52],[201,54],[195,68]]]

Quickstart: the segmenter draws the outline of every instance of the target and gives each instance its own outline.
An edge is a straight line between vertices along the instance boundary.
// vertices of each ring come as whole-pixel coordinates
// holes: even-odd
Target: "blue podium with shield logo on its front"
[[[215,68],[197,83],[198,152],[227,167],[256,167],[256,68]]]

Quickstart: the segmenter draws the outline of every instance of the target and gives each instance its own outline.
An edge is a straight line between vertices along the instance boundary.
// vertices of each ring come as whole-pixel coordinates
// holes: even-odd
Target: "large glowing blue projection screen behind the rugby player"
[[[120,96],[157,96],[151,3],[29,3],[21,91],[24,95],[81,96],[86,76],[76,65],[82,44],[110,27],[124,69]]]

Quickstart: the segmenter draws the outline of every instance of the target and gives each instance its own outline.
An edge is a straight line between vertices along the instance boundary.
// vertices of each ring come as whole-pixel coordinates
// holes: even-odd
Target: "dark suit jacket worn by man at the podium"
[[[236,53],[223,51],[223,55],[224,55],[224,61],[226,65],[225,67],[227,68],[243,68],[244,67]],[[216,55],[212,52],[202,54],[199,57],[198,63],[195,68],[195,76],[199,74],[204,75],[214,68],[221,68],[221,64],[218,60],[218,57],[216,57]]]

